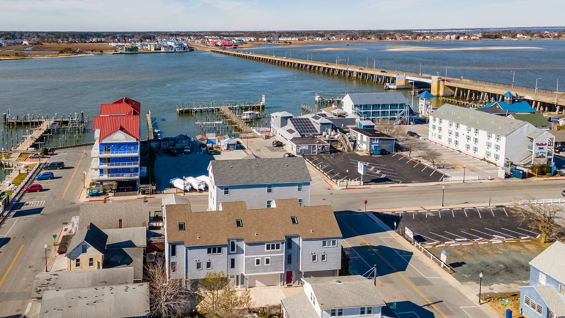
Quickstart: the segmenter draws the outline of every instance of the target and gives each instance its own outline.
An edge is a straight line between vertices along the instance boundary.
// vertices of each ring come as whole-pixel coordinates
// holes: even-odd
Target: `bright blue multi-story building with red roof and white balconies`
[[[102,115],[94,117],[90,177],[99,182],[101,190],[110,181],[120,192],[136,191],[139,186],[139,112],[140,104],[124,97],[114,104],[102,104]]]

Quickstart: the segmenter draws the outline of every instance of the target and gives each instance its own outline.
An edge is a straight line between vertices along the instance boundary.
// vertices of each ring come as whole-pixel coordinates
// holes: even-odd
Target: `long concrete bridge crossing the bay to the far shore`
[[[307,59],[279,57],[276,55],[250,53],[229,49],[210,48],[203,45],[192,45],[195,49],[211,51],[214,53],[227,54],[241,58],[253,59],[254,61],[272,63],[293,68],[302,68],[315,72],[324,72],[338,76],[345,76],[359,80],[372,81],[374,83],[395,83],[406,85],[411,81],[419,81],[431,84],[431,93],[436,96],[464,97],[471,101],[491,102],[501,100],[501,95],[510,91],[528,100],[533,108],[538,111],[555,111],[561,113],[565,109],[565,92],[541,91],[540,89],[515,87],[476,81],[470,79],[444,78],[429,74],[418,74],[399,70],[388,70],[386,68],[365,67],[358,65],[343,65],[324,61],[311,61]]]

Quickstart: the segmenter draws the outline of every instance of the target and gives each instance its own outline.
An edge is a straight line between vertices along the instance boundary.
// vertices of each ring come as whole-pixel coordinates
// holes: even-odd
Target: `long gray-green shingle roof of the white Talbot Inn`
[[[499,115],[487,114],[482,111],[445,104],[433,111],[430,116],[442,118],[446,121],[464,124],[493,134],[507,136],[512,131],[526,124],[518,119],[507,118]]]

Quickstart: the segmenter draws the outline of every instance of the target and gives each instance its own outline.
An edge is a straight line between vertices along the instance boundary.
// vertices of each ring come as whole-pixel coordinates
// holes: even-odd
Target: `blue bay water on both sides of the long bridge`
[[[406,42],[405,42],[406,43]],[[261,53],[274,49],[276,55],[306,58],[312,53],[319,61],[336,62],[349,57],[350,64],[422,72],[451,77],[472,78],[511,84],[516,71],[516,85],[555,90],[555,80],[565,78],[565,41],[476,41],[414,42],[412,46],[441,48],[470,46],[535,46],[529,50],[471,51],[384,51],[388,43],[379,45],[314,44],[307,46],[272,45],[260,48]],[[320,50],[337,48],[337,50]],[[257,49],[256,49],[257,50]],[[346,63],[346,61],[341,61]],[[186,53],[93,55],[71,58],[12,60],[0,62],[0,113],[11,108],[12,115],[41,114],[52,117],[55,112],[84,111],[92,118],[101,103],[127,96],[141,102],[141,137],[147,137],[145,111],[157,117],[163,136],[201,131],[189,115],[178,116],[176,104],[258,100],[267,96],[270,112],[286,110],[301,113],[301,105],[314,106],[314,93],[322,96],[343,96],[345,92],[383,92],[381,85],[365,81],[317,74],[310,71],[268,65],[223,54],[195,50]],[[565,83],[563,84],[565,85]],[[563,91],[561,89],[560,91]],[[411,98],[409,91],[402,91]],[[2,147],[11,147],[15,129],[6,128]],[[24,127],[25,128],[25,127]],[[25,130],[24,130],[25,134]],[[18,129],[21,136],[21,127]],[[58,145],[58,136],[53,140]],[[69,138],[72,142],[72,136]],[[92,130],[81,141],[91,141]],[[7,145],[6,145],[7,144]]]

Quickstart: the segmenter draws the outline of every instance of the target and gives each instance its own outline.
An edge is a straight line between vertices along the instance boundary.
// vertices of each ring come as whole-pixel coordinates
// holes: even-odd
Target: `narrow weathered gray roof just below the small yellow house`
[[[41,298],[47,289],[94,287],[133,283],[133,268],[104,268],[38,273],[33,280],[32,298]]]

